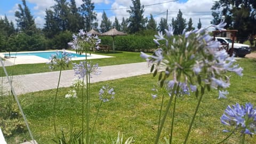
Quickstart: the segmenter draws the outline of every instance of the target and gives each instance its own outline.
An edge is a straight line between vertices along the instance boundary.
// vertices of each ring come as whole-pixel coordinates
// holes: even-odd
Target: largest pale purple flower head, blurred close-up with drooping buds
[[[221,21],[219,25],[212,27],[224,30],[226,25]],[[141,52],[141,58],[146,59],[150,66],[157,72],[164,72],[165,76],[159,77],[159,81],[180,85],[180,93],[189,94],[196,91],[199,85],[207,85],[213,89],[226,89],[229,87],[229,77],[225,76],[228,71],[242,76],[243,68],[235,64],[234,57],[229,57],[225,51],[219,51],[221,46],[218,41],[208,34],[207,29],[183,30],[182,35],[173,36],[174,29],[165,29],[166,36],[162,32],[155,35],[154,42],[159,48],[148,55]],[[161,45],[158,41],[165,41]],[[172,79],[167,79],[171,75]],[[177,77],[179,76],[179,77]],[[172,86],[173,86],[172,85]],[[226,98],[228,92],[219,91],[219,98]],[[155,97],[155,96],[154,96]]]

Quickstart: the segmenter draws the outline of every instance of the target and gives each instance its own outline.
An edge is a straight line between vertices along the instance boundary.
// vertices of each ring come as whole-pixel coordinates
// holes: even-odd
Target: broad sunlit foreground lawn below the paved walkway
[[[228,105],[236,102],[244,105],[251,102],[256,106],[256,60],[239,59],[238,63],[244,68],[244,76],[231,75],[229,95],[227,99],[218,99],[218,92],[212,90],[206,92],[201,103],[201,108],[196,117],[188,143],[217,143],[226,138],[227,133],[222,130],[227,128],[220,123],[220,117]],[[133,137],[135,143],[153,143],[157,131],[157,119],[161,99],[153,100],[150,96],[151,88],[157,82],[157,78],[150,75],[134,76],[129,78],[116,79],[114,81],[93,83],[91,85],[92,114],[95,113],[95,106],[99,103],[98,91],[102,85],[109,84],[114,87],[116,95],[113,101],[104,103],[100,110],[97,131],[95,131],[96,143],[111,143],[117,137],[118,131],[124,133],[124,137]],[[61,88],[57,103],[57,127],[64,131],[69,130],[69,116],[73,119],[76,130],[81,127],[81,101],[65,99],[64,95],[70,88]],[[31,131],[38,143],[53,143],[53,98],[55,90],[27,93],[19,96],[23,110],[30,123]],[[5,99],[0,99],[0,103]],[[165,98],[167,103],[168,98]],[[190,118],[194,113],[197,99],[194,94],[180,97],[177,103],[175,114],[173,143],[182,143],[185,138]],[[93,115],[92,115],[93,119]],[[170,132],[170,119],[165,125],[162,133],[167,137]],[[247,143],[255,143],[256,137],[246,137]],[[27,133],[15,134],[7,138],[7,143],[28,138]],[[232,136],[225,143],[239,143],[239,134]]]

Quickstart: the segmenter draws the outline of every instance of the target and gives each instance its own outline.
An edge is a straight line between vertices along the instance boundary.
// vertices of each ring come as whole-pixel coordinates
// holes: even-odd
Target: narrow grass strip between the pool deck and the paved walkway
[[[109,55],[115,58],[104,58],[104,59],[92,59],[93,63],[98,63],[100,67],[102,66],[111,66],[111,65],[121,65],[125,63],[134,63],[134,62],[144,62],[145,60],[139,57],[139,52],[95,52],[94,54]],[[78,63],[79,60],[73,61]],[[72,69],[70,66],[68,69]],[[68,70],[66,69],[66,70]],[[6,70],[9,72],[9,75],[25,75],[25,74],[34,74],[34,73],[44,73],[51,71],[46,63],[35,63],[35,64],[24,64],[24,65],[14,65],[6,67]],[[55,69],[59,70],[59,69]],[[5,76],[0,74],[1,76]]]

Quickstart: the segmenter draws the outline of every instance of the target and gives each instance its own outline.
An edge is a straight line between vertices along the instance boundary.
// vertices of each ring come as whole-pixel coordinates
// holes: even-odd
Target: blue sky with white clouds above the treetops
[[[91,0],[94,2],[95,11],[97,12],[98,23],[101,23],[101,16],[103,9],[105,10],[107,17],[110,21],[114,21],[115,17],[122,21],[122,18],[128,18],[129,13],[125,9],[132,5],[131,0]],[[183,17],[187,19],[192,18],[194,27],[197,26],[199,18],[201,19],[202,26],[207,27],[212,20],[211,6],[212,0],[140,0],[141,5],[145,5],[144,16],[149,17],[153,14],[154,19],[159,23],[162,17],[166,18],[166,11],[168,10],[168,22],[171,23],[171,19],[177,17],[179,9],[183,13]],[[43,27],[45,9],[49,9],[54,5],[54,0],[26,0],[26,3],[33,14],[38,27]],[[4,17],[6,14],[10,21],[14,24],[15,11],[18,10],[18,4],[22,5],[21,0],[0,0],[0,17]],[[77,6],[82,4],[82,0],[76,0]],[[111,10],[109,10],[111,9]]]

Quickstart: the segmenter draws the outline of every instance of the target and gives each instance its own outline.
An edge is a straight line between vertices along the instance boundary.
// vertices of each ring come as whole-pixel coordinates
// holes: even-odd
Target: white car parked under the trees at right
[[[227,37],[215,37],[215,39],[219,41],[222,45],[228,44],[228,52],[230,53],[232,39]],[[233,48],[233,54],[235,55],[235,57],[244,57],[246,54],[249,54],[252,51],[250,45],[247,44],[234,43]]]

